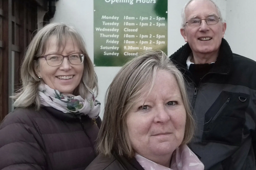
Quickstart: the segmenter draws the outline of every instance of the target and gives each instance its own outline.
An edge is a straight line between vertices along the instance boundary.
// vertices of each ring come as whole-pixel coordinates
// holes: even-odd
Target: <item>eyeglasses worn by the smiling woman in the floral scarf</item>
[[[38,56],[37,58],[45,58],[46,62],[50,66],[60,65],[65,57],[68,57],[69,62],[74,65],[79,65],[84,60],[84,55],[82,53],[72,53],[67,56],[61,54],[48,54],[44,56]]]

